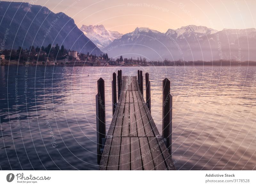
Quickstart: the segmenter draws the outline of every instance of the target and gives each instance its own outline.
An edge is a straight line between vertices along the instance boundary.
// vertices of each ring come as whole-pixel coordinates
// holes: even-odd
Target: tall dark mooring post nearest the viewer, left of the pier
[[[106,138],[106,112],[105,112],[105,83],[102,78],[98,80],[98,94],[96,95],[96,128],[97,128],[97,161],[100,164],[103,150],[102,138]]]

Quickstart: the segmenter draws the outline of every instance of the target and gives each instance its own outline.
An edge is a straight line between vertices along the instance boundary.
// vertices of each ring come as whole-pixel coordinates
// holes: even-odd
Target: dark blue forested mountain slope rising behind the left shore
[[[0,2],[0,43],[4,49],[29,46],[64,45],[65,48],[99,55],[100,49],[65,13],[53,13],[40,5]],[[6,37],[5,31],[8,30]],[[6,40],[6,41],[5,41]]]

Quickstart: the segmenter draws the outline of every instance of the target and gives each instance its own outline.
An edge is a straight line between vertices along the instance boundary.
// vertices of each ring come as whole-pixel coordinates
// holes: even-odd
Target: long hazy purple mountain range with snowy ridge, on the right
[[[223,29],[188,25],[165,33],[137,27],[115,39],[105,50],[125,58],[143,56],[148,60],[256,60],[256,29]],[[103,49],[104,51],[104,49]]]

